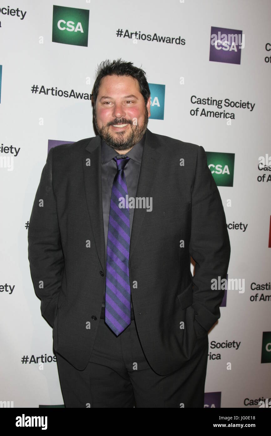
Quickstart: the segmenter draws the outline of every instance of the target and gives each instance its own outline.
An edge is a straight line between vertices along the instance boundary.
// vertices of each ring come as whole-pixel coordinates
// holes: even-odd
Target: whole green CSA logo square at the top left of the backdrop
[[[52,41],[87,47],[89,10],[53,6]]]

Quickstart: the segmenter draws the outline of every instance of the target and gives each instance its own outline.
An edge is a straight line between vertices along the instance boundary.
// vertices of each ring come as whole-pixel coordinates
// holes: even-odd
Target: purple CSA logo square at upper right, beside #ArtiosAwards
[[[209,61],[240,65],[242,48],[244,35],[241,30],[211,27]]]

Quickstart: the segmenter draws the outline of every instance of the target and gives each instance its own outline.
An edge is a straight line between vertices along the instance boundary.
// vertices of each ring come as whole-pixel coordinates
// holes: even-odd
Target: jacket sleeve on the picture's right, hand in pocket
[[[195,261],[193,308],[198,334],[208,331],[220,318],[224,290],[212,290],[212,279],[226,279],[231,246],[221,197],[207,165],[202,146],[198,147],[192,188],[191,238],[189,252]]]

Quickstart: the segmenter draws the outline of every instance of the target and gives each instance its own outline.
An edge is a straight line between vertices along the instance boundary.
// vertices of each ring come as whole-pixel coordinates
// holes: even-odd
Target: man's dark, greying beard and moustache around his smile
[[[104,142],[107,143],[107,145],[110,146],[111,148],[114,148],[114,150],[128,150],[129,148],[133,147],[134,144],[139,142],[147,130],[148,121],[149,121],[148,111],[147,111],[147,106],[145,106],[144,121],[141,126],[139,126],[138,124],[133,125],[133,121],[129,119],[115,118],[113,121],[110,121],[110,123],[107,123],[106,126],[100,128],[97,125],[96,111],[94,108],[94,123],[97,132],[100,135],[100,137],[104,140]],[[113,124],[130,124],[131,131],[126,138],[125,138],[125,132],[116,132],[116,136],[114,137],[109,132],[109,126],[113,126]]]

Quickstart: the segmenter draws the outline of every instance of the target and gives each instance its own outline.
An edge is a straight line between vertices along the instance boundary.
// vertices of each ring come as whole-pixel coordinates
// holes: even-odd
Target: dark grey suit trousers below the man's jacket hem
[[[197,340],[192,359],[169,375],[158,375],[148,364],[135,320],[116,337],[100,318],[90,361],[83,371],[56,354],[66,408],[204,407],[207,334]]]

